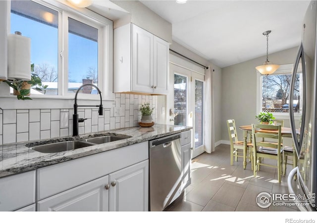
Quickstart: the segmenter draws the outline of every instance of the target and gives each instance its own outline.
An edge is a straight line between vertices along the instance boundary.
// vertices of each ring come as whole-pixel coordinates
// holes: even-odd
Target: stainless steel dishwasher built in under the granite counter
[[[181,194],[180,134],[149,141],[150,211],[162,211]]]

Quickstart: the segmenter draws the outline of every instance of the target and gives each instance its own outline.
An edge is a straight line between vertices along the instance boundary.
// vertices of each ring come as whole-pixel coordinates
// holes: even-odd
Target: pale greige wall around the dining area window
[[[275,64],[294,63],[297,47],[269,55]],[[222,68],[221,74],[221,138],[229,140],[227,119],[235,119],[236,126],[257,123],[257,74],[255,67],[264,63],[266,57],[258,57]],[[284,121],[288,126],[289,121]],[[242,139],[242,130],[238,130]]]

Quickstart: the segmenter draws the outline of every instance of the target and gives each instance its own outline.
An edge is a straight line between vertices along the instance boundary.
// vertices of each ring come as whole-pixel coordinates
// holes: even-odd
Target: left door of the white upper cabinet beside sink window
[[[153,34],[132,25],[132,91],[153,92]]]

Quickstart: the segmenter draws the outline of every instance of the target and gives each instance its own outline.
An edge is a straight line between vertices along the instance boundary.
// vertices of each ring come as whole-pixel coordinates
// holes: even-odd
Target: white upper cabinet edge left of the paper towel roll
[[[0,79],[7,78],[7,18],[9,1],[0,1]]]

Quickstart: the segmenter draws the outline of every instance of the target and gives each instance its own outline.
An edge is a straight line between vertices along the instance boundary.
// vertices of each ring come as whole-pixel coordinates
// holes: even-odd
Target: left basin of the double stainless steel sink
[[[66,142],[57,142],[39,146],[33,146],[30,149],[41,152],[41,153],[58,153],[68,150],[75,150],[87,146],[93,146],[95,144],[84,142],[84,141],[66,141]]]

